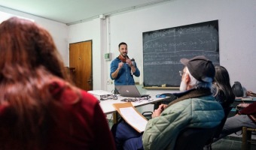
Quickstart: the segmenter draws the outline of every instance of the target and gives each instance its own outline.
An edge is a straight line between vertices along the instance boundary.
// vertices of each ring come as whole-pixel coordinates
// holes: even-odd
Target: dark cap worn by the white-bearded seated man
[[[181,63],[187,67],[196,80],[203,83],[212,83],[215,77],[215,66],[205,56],[198,55],[190,59],[181,58]]]

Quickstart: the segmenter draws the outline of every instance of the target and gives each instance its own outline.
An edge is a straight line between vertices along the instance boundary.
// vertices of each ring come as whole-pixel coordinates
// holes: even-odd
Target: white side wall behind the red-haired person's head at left
[[[13,16],[26,17],[28,19],[34,20],[35,23],[37,23],[39,26],[47,29],[47,31],[49,31],[52,35],[56,47],[59,50],[60,55],[62,55],[65,65],[69,66],[68,26],[66,26],[66,24],[58,23],[52,20],[46,20],[41,17],[36,17],[28,13],[11,10],[6,7],[0,7],[0,11],[5,13],[11,13],[13,14]],[[5,18],[5,16],[0,15],[1,21],[3,21],[2,18]]]

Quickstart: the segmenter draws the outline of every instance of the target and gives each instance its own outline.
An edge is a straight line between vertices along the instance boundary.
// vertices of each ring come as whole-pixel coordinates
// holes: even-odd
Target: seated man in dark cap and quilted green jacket
[[[221,104],[212,96],[215,66],[203,55],[181,58],[184,65],[180,93],[170,104],[154,110],[144,133],[136,133],[126,122],[112,127],[117,149],[173,149],[178,133],[186,127],[212,128],[224,118]]]

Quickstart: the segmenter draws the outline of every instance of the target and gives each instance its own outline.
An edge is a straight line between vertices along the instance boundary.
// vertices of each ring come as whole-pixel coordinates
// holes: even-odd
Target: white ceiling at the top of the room
[[[171,0],[0,0],[0,6],[67,25]]]

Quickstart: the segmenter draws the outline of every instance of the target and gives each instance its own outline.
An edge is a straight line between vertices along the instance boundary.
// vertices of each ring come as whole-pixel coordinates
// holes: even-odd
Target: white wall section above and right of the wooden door
[[[79,23],[69,26],[69,43],[77,43],[86,40],[93,40],[93,89],[104,89],[106,74],[103,57],[105,52],[104,41],[102,40],[105,21],[100,19],[87,23]],[[105,72],[104,72],[105,71]]]

